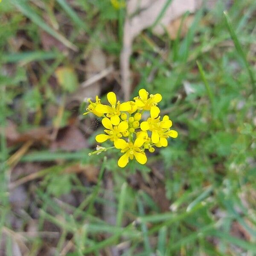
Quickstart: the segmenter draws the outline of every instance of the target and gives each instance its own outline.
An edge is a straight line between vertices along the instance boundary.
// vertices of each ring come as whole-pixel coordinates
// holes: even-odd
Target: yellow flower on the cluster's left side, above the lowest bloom
[[[107,128],[107,130],[104,130],[106,134],[99,134],[95,137],[95,140],[99,143],[108,139],[114,141],[121,138],[123,136],[122,133],[128,129],[128,123],[126,121],[122,121],[118,126],[113,127],[111,121],[107,117],[102,119],[102,125]]]

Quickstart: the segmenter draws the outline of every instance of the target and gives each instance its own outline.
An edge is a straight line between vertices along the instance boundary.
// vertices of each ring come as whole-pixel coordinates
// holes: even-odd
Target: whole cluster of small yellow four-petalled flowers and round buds
[[[116,100],[116,94],[110,92],[107,99],[110,105],[103,105],[98,96],[96,102],[89,100],[90,104],[84,114],[93,113],[102,117],[105,134],[99,134],[95,139],[99,143],[110,140],[113,146],[104,148],[98,145],[96,151],[89,155],[117,148],[122,153],[117,162],[118,166],[125,167],[129,160],[134,159],[145,164],[145,152],[153,153],[155,147],[166,147],[169,137],[177,138],[177,131],[171,130],[172,121],[169,116],[159,116],[157,103],[162,100],[159,93],[149,95],[145,89],[141,89],[134,101],[120,103]],[[142,113],[145,111],[149,111],[150,117],[142,120]]]

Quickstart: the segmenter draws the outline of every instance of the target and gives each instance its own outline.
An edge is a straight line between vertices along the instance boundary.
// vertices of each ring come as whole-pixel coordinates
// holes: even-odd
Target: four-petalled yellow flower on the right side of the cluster
[[[140,128],[142,131],[151,131],[152,142],[158,143],[160,140],[159,133],[162,132],[162,129],[169,129],[172,126],[172,121],[169,120],[169,116],[164,116],[163,120],[160,121],[160,116],[158,116],[159,112],[155,110],[150,111],[150,113],[151,117],[149,117],[147,121],[142,122]]]

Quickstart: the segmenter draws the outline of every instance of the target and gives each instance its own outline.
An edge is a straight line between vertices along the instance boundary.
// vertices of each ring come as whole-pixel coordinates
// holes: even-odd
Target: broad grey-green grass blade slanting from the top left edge
[[[56,32],[54,29],[52,29],[50,26],[45,23],[45,21],[35,13],[35,11],[26,3],[24,0],[11,0],[11,2],[17,7],[17,9],[20,10],[20,12],[23,13],[26,17],[31,19],[36,25],[38,25],[41,29],[43,29],[45,32],[52,35],[54,38],[56,38],[58,41],[60,41],[62,44],[64,44],[66,47],[73,49],[74,51],[77,51],[78,48],[67,40],[63,35]]]

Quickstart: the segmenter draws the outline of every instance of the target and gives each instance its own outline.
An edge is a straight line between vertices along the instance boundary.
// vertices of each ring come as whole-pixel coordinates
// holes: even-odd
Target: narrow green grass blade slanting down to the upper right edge
[[[248,75],[250,77],[250,80],[251,80],[251,84],[253,86],[253,91],[255,92],[256,90],[256,82],[254,80],[254,76],[253,76],[253,72],[252,70],[250,69],[250,64],[248,63],[247,59],[246,59],[246,55],[241,47],[241,44],[236,36],[236,32],[234,31],[233,27],[231,26],[231,23],[230,23],[230,20],[229,20],[229,17],[227,15],[227,12],[224,12],[224,20],[225,20],[225,23],[226,23],[226,26],[227,26],[227,29],[230,33],[230,36],[235,44],[235,47],[236,47],[236,51],[238,52],[238,54],[240,55],[240,57],[242,58],[242,60],[244,61],[244,65],[247,69],[247,72],[248,72]]]

